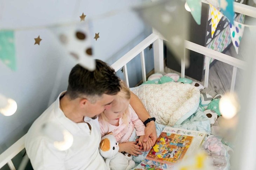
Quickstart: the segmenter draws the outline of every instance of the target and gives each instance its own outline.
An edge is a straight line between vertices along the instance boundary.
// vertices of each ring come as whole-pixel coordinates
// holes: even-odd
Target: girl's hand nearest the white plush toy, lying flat
[[[138,156],[141,155],[143,150],[140,150],[140,146],[136,145],[137,142],[125,142],[119,143],[119,152],[125,151],[128,154]]]

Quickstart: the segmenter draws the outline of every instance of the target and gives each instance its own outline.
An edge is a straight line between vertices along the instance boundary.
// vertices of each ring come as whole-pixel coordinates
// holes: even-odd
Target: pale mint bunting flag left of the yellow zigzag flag
[[[202,2],[201,0],[187,0],[187,4],[191,10],[191,15],[198,25],[201,24],[201,10]]]

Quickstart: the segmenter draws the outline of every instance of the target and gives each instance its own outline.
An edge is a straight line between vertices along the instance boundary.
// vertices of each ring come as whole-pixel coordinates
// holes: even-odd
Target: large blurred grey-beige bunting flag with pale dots
[[[135,12],[168,41],[167,47],[180,62],[185,56],[184,40],[188,37],[188,15],[185,0],[163,0],[145,6],[134,7]],[[189,59],[185,57],[186,64]]]

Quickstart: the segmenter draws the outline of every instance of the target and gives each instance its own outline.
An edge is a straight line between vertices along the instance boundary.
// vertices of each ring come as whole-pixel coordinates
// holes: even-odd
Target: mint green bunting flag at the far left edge
[[[5,65],[16,71],[14,31],[0,31],[0,59]]]

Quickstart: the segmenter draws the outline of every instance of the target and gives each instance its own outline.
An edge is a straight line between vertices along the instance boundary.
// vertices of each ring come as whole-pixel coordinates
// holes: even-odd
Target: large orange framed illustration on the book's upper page
[[[160,163],[176,163],[188,150],[193,136],[162,132],[146,159]]]

